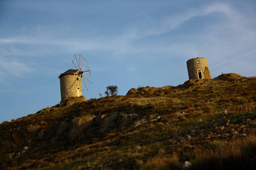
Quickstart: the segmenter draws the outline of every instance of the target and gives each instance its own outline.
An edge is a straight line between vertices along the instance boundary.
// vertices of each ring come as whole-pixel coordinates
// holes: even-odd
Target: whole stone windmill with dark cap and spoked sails
[[[66,72],[59,75],[60,93],[61,93],[62,101],[68,100],[74,97],[81,97],[83,95],[82,79],[84,79],[84,85],[86,88],[87,88],[86,79],[88,82],[91,82],[90,79],[84,76],[85,73],[90,73],[89,69],[84,71],[84,67],[86,67],[87,61],[85,61],[84,66],[81,68],[81,55],[79,55],[79,61],[76,55],[75,55],[75,59],[78,62],[78,66],[74,63],[74,61],[72,61],[72,63],[75,65],[77,70],[69,69]]]

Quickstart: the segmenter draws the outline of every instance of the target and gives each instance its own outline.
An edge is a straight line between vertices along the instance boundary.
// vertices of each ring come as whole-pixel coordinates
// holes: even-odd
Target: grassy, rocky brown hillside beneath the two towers
[[[255,89],[230,73],[48,107],[0,124],[0,169],[254,169]]]

